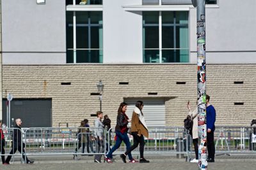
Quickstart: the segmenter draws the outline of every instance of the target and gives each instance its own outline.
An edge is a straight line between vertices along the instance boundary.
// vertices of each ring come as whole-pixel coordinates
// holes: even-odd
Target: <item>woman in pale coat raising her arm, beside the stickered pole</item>
[[[191,120],[193,120],[192,138],[193,138],[193,145],[195,148],[195,155],[196,155],[196,158],[191,160],[190,162],[198,163],[198,108],[196,107],[195,110],[191,111],[191,106],[189,102],[187,104],[187,108],[189,111],[188,115],[191,117]]]

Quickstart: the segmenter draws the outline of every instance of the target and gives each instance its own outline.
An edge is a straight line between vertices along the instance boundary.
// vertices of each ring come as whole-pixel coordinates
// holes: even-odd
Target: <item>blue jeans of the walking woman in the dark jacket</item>
[[[108,155],[106,155],[108,158],[110,158],[110,159],[113,158],[112,153],[115,152],[115,150],[117,150],[120,147],[122,141],[124,141],[124,143],[126,145],[126,150],[129,150],[129,148],[131,147],[131,143],[130,143],[129,137],[127,135],[127,132],[124,132],[124,134],[122,134],[121,132],[116,131],[116,143],[113,146],[113,148],[108,152]],[[128,154],[128,157],[129,157],[129,160],[132,160],[131,152]]]

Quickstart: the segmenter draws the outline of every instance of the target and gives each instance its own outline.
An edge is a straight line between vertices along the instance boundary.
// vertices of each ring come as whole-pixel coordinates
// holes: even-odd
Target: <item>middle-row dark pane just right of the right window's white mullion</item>
[[[174,48],[173,27],[162,27],[162,47]]]

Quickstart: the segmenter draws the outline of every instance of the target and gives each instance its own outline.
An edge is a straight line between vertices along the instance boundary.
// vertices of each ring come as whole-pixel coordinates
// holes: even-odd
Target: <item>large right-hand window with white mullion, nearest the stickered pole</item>
[[[188,12],[143,12],[143,62],[189,62]]]

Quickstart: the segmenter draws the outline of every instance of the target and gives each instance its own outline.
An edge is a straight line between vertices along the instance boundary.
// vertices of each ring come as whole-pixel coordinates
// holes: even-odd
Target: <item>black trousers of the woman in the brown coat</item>
[[[140,143],[140,158],[143,158],[144,157],[144,146],[145,146],[144,136],[142,134],[141,134],[141,136],[138,136],[138,132],[132,132],[132,136],[133,136],[133,145],[124,154],[128,155],[128,153],[131,153],[132,150],[137,148]]]

